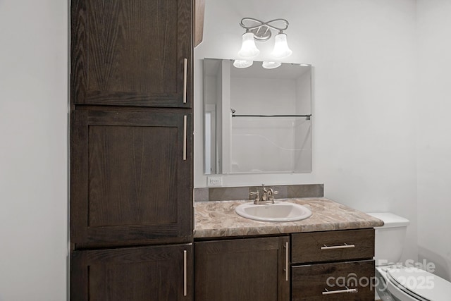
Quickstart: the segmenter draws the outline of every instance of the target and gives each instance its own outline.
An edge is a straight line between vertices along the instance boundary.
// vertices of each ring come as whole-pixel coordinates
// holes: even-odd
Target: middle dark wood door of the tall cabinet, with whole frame
[[[191,240],[189,113],[76,110],[71,123],[75,249]]]

